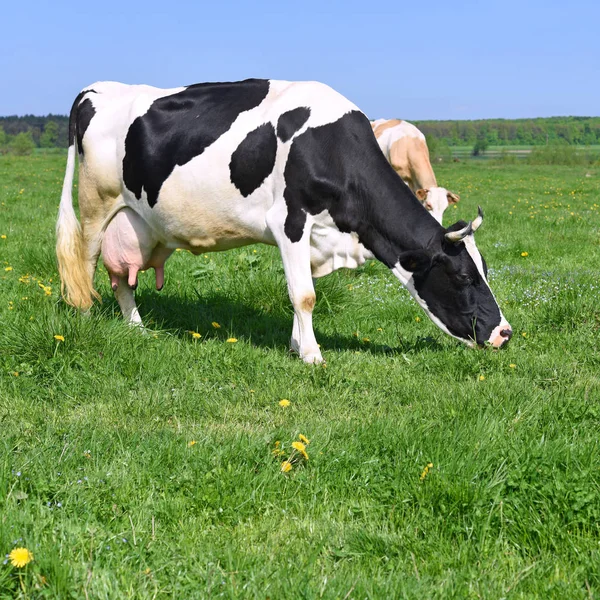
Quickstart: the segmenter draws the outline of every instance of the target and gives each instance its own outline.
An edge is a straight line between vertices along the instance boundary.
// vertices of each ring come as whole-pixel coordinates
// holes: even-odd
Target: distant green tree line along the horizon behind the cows
[[[539,119],[480,119],[476,121],[414,121],[432,145],[472,146],[474,153],[488,146],[543,146],[600,144],[600,117]],[[69,118],[0,117],[0,153],[30,154],[35,148],[66,148]]]

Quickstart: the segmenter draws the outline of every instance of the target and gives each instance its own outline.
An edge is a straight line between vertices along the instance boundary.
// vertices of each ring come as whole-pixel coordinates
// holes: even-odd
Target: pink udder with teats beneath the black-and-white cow
[[[127,281],[135,289],[138,272],[149,268],[156,272],[156,289],[162,289],[165,261],[172,252],[158,241],[152,229],[130,208],[120,210],[113,217],[102,240],[102,259],[115,291],[120,280]]]

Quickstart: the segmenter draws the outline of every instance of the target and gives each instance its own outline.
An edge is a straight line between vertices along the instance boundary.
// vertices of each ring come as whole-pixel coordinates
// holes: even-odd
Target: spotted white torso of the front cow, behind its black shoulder
[[[84,168],[100,195],[119,196],[167,246],[198,252],[272,242],[265,215],[283,194],[293,140],[357,110],[317,82],[86,90]]]

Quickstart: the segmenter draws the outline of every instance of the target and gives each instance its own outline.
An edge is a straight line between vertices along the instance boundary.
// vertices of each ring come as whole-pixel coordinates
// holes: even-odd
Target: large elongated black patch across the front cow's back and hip
[[[258,106],[269,81],[198,83],[155,100],[125,138],[123,181],[136,198],[146,191],[153,207],[176,165],[184,165],[229,130],[240,113]]]

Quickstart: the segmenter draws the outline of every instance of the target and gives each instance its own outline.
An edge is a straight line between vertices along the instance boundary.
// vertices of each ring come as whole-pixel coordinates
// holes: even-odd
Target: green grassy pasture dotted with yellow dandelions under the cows
[[[600,596],[600,169],[436,168],[448,223],[484,208],[507,348],[372,262],[317,282],[308,366],[275,248],[142,275],[146,335],[103,268],[61,303],[64,164],[0,157],[0,598]]]

